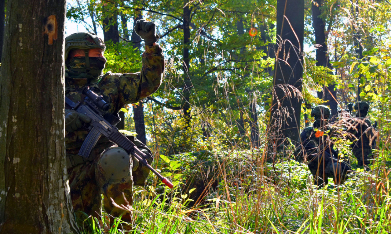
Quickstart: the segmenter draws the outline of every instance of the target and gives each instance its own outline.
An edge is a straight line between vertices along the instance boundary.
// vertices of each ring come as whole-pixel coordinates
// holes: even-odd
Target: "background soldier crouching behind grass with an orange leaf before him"
[[[334,184],[342,184],[350,167],[345,162],[339,162],[338,153],[333,149],[334,144],[326,134],[330,109],[319,105],[312,109],[311,116],[315,118],[312,127],[303,129],[300,134],[301,145],[299,159],[308,162],[308,168],[315,183],[322,187],[328,183],[328,177],[333,177]],[[330,133],[329,133],[330,134]],[[301,158],[301,159],[300,159]]]

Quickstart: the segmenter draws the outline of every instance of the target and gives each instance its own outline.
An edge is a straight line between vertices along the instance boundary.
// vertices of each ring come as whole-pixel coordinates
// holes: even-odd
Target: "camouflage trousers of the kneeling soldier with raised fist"
[[[131,140],[134,141],[134,139]],[[138,144],[141,142],[136,140],[134,143],[142,151],[150,152],[145,145]],[[84,213],[97,218],[101,222],[103,195],[103,208],[109,215],[110,226],[113,225],[115,218],[121,217],[121,220],[126,223],[122,223],[122,227],[117,228],[131,230],[133,226],[131,211],[133,206],[133,184],[144,186],[145,179],[149,175],[149,169],[143,167],[140,163],[137,168],[133,168],[132,172],[133,160],[129,157],[129,174],[120,180],[108,181],[97,162],[100,160],[101,153],[112,145],[113,143],[111,142],[100,144],[93,149],[88,160],[77,165],[74,165],[75,162],[73,162],[73,166],[68,165],[73,208],[79,222],[83,222],[86,219]],[[78,149],[74,151],[67,150],[66,152],[68,159],[71,158],[75,159],[74,161],[78,161],[82,158],[76,155]],[[83,161],[83,159],[81,160]],[[152,159],[147,161],[151,163]],[[86,224],[80,223],[79,227],[86,228]]]

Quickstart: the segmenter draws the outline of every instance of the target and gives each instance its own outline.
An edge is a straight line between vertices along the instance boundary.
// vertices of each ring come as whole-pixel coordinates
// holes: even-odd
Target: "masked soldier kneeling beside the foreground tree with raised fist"
[[[164,71],[162,49],[156,45],[155,24],[138,20],[135,32],[145,42],[142,68],[138,73],[102,74],[106,64],[102,39],[90,32],[69,35],[65,39],[65,95],[73,102],[83,102],[85,87],[90,87],[109,104],[108,113],[118,117],[122,106],[136,103],[155,92],[161,84]],[[101,137],[88,158],[78,156],[79,149],[88,131],[83,124],[91,120],[66,106],[66,160],[75,214],[83,213],[101,220],[103,194],[104,210],[110,215],[110,225],[115,218],[129,223],[119,229],[131,230],[133,216],[133,184],[144,185],[149,169],[129,156],[126,151],[106,137]],[[143,152],[149,149],[134,137],[129,137]],[[147,161],[152,162],[152,158]],[[114,203],[115,202],[115,203]],[[117,204],[117,205],[116,205]],[[81,212],[80,212],[81,211]]]

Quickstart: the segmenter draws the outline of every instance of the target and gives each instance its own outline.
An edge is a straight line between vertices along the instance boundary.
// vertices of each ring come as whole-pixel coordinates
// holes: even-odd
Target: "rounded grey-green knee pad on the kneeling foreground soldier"
[[[124,149],[112,146],[102,152],[97,166],[107,182],[120,181],[130,176],[132,161]]]

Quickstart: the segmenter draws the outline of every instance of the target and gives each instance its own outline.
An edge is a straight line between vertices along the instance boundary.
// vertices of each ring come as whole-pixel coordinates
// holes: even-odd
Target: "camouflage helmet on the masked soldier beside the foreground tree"
[[[93,48],[99,48],[103,51],[106,49],[104,41],[96,34],[91,32],[77,32],[65,38],[65,61],[68,59],[68,54],[73,49],[81,49],[88,51]],[[88,53],[86,53],[88,55]]]

